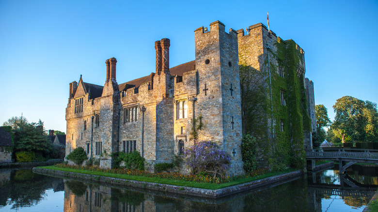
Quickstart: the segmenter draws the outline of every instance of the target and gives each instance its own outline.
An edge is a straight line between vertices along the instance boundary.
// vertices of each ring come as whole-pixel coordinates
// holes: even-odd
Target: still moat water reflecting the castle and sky
[[[378,167],[338,167],[220,199],[117,188],[50,177],[31,169],[0,170],[0,211],[28,212],[361,212],[378,187]]]

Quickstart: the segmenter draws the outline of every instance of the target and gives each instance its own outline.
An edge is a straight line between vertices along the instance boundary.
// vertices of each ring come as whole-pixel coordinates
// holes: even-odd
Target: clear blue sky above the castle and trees
[[[142,2],[142,3],[139,3]],[[170,66],[194,60],[194,30],[267,25],[305,51],[315,104],[350,95],[378,103],[378,1],[0,0],[0,125],[12,116],[65,132],[69,83],[104,85],[115,57],[117,82],[155,72],[154,42],[171,39]]]

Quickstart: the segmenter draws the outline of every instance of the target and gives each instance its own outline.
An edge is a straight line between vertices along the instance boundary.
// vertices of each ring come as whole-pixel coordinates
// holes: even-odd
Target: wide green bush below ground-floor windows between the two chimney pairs
[[[120,162],[125,162],[125,168],[144,170],[144,158],[142,158],[139,151],[125,153],[123,151],[115,152],[112,154],[114,159],[114,167],[119,168]]]

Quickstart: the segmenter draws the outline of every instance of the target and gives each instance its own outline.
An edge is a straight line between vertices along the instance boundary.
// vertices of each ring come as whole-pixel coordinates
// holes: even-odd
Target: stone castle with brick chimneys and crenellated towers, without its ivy
[[[79,83],[70,83],[66,108],[66,155],[77,147],[83,147],[89,158],[100,159],[100,167],[111,167],[111,153],[139,151],[147,163],[153,165],[170,162],[173,154],[180,154],[193,145],[194,137],[218,142],[219,147],[233,159],[230,173],[243,173],[243,133],[261,138],[263,144],[268,142],[264,141],[264,135],[272,137],[277,134],[274,132],[277,126],[284,132],[290,121],[298,121],[291,120],[291,117],[296,116],[290,114],[277,119],[259,111],[264,131],[260,135],[253,133],[254,123],[250,123],[247,117],[251,110],[248,109],[249,97],[244,98],[248,95],[245,92],[253,89],[251,82],[255,84],[256,81],[249,74],[249,69],[257,70],[263,76],[258,79],[263,81],[261,85],[265,89],[261,102],[268,103],[268,99],[276,95],[282,101],[291,101],[285,100],[287,94],[282,92],[270,91],[269,95],[266,89],[272,83],[267,83],[267,75],[262,74],[269,72],[270,81],[274,81],[272,78],[275,75],[282,74],[281,77],[284,78],[284,73],[274,71],[273,68],[280,64],[275,45],[280,38],[262,24],[248,28],[248,34],[244,34],[244,30],[230,29],[226,32],[220,21],[211,23],[209,28],[207,30],[201,27],[194,31],[195,61],[170,68],[170,40],[164,38],[155,42],[156,71],[149,76],[118,84],[117,60],[110,58],[106,60],[104,86],[85,83],[81,76]],[[291,40],[285,42],[294,43]],[[295,70],[298,72],[298,81],[305,72],[304,52],[298,45],[295,45],[295,54],[303,58],[298,61],[298,70]],[[270,64],[265,60],[268,55],[271,70],[266,67]],[[281,62],[284,61],[285,59]],[[280,70],[284,72],[284,65]],[[302,81],[305,83],[304,79]],[[312,86],[309,81],[306,85],[309,88]],[[242,91],[243,86],[245,88]],[[300,88],[297,89],[300,91]],[[282,90],[287,91],[286,88]],[[314,98],[312,96],[309,99]],[[302,100],[294,98],[293,101]],[[273,103],[270,101],[269,106],[276,110],[277,106],[273,106]],[[310,115],[308,111],[311,111],[310,106],[306,106],[307,116]],[[299,118],[303,119],[302,116]],[[280,125],[280,121],[284,123]],[[289,135],[290,130],[286,131]],[[307,132],[302,127],[302,138],[307,134],[309,139],[306,143],[309,143],[311,130]],[[288,140],[292,143],[291,150],[303,151],[303,139]],[[260,145],[260,148],[263,149],[262,146],[264,145]],[[310,148],[311,144],[307,146]],[[261,161],[267,156],[261,154]]]

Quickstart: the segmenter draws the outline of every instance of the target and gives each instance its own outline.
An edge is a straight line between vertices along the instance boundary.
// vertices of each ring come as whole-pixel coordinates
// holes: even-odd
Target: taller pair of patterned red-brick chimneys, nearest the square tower
[[[169,46],[170,40],[168,38],[155,42],[157,75],[160,75],[161,71],[169,74]]]

